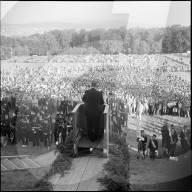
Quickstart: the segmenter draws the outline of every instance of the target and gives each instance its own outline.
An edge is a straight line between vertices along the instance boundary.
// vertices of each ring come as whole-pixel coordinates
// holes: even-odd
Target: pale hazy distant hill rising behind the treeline
[[[127,20],[110,20],[103,22],[82,22],[82,23],[63,23],[63,22],[43,22],[43,23],[26,23],[26,24],[7,24],[1,23],[1,35],[4,36],[29,36],[35,33],[44,33],[47,31],[59,29],[85,29],[92,30],[95,28],[120,28],[122,26],[127,26]],[[152,25],[129,23],[129,27],[142,27],[151,28],[155,27]]]

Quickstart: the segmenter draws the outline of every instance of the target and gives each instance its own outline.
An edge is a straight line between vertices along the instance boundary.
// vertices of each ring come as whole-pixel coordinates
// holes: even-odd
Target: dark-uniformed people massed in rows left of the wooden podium
[[[29,142],[33,146],[42,142],[50,147],[59,139],[65,141],[72,130],[71,111],[75,105],[66,97],[57,101],[46,96],[20,99],[9,93],[1,99],[1,136],[8,138],[8,141],[2,141],[2,145],[22,142],[22,146],[26,147]]]

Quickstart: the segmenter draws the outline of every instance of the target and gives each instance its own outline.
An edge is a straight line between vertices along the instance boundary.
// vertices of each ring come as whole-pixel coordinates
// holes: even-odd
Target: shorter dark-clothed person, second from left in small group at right
[[[153,160],[158,155],[158,141],[156,140],[157,135],[153,134],[148,145],[149,157]]]

